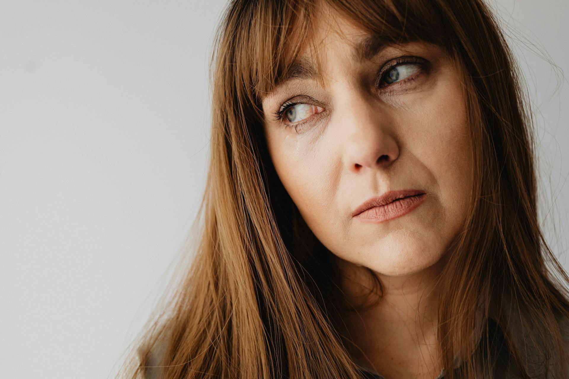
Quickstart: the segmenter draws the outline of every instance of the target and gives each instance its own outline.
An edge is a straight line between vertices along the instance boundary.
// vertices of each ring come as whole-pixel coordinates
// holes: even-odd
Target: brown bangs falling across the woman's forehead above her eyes
[[[246,7],[245,7],[246,8]],[[296,69],[300,54],[307,53],[320,68],[318,47],[312,36],[318,18],[331,11],[370,37],[372,45],[402,44],[425,41],[448,51],[444,41],[452,39],[443,31],[440,9],[423,0],[293,0],[249,3],[249,15],[235,36],[236,69],[253,104],[262,113],[259,99],[283,80],[302,75]],[[445,38],[443,38],[445,35]],[[448,42],[447,42],[448,43]],[[370,46],[373,48],[373,46]]]

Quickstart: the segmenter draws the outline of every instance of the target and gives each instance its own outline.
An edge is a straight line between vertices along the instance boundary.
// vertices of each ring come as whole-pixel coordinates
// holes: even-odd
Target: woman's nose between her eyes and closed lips
[[[373,99],[356,96],[338,109],[343,113],[341,144],[349,171],[387,168],[399,157],[393,116],[385,108]]]

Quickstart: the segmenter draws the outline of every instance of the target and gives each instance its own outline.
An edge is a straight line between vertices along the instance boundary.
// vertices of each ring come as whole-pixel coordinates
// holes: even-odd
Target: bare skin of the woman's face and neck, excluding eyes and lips
[[[322,16],[317,30],[325,86],[297,78],[262,99],[269,153],[308,227],[335,256],[345,293],[360,301],[371,285],[365,268],[381,280],[376,307],[345,315],[361,349],[354,359],[387,379],[432,379],[442,368],[433,281],[460,232],[471,186],[459,70],[422,42],[359,60],[354,46],[367,35],[337,15]],[[401,56],[428,63],[400,64],[378,86],[378,74]],[[307,52],[303,59],[314,61]],[[277,120],[274,112],[289,99],[300,105]],[[352,217],[370,197],[400,189],[422,189],[426,200],[381,223]]]

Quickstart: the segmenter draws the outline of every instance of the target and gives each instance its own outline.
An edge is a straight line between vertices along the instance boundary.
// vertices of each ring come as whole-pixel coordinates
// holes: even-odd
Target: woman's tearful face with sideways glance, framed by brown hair
[[[420,272],[443,256],[468,206],[459,72],[434,45],[362,44],[368,36],[338,18],[322,19],[318,30],[321,72],[305,54],[262,100],[275,169],[336,256],[385,276]],[[424,195],[353,216],[368,199],[400,190]]]

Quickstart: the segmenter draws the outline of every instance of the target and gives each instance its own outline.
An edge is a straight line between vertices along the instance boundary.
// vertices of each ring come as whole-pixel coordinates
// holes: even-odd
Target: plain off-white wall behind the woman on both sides
[[[492,4],[535,45],[513,41],[539,110],[540,212],[566,263],[569,2]],[[0,378],[105,378],[149,315],[204,186],[224,6],[0,2]]]

